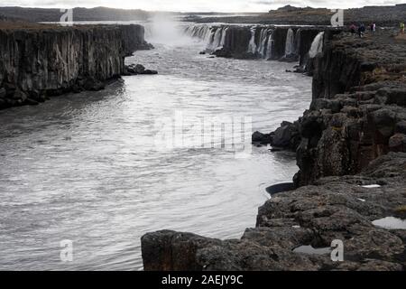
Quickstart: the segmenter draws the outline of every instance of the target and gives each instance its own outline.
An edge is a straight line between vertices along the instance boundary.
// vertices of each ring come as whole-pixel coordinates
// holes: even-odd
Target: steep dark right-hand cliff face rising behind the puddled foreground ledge
[[[326,43],[314,61],[313,101],[295,123],[298,186],[406,152],[405,47],[391,35],[341,34]]]

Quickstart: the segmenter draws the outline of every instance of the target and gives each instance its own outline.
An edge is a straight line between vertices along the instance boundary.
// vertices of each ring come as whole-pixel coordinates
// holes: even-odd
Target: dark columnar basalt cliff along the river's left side
[[[0,108],[102,89],[106,80],[123,74],[126,55],[148,48],[140,25],[0,28]]]

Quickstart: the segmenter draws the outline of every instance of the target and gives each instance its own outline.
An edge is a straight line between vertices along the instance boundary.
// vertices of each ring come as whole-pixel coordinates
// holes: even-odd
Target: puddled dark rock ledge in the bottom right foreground
[[[142,238],[145,270],[405,270],[406,231],[374,225],[404,218],[406,154],[375,160],[360,175],[330,177],[281,192],[259,209],[241,239],[174,231]],[[368,185],[380,183],[374,188]],[[332,261],[334,240],[344,261]],[[323,248],[324,254],[314,248]]]

